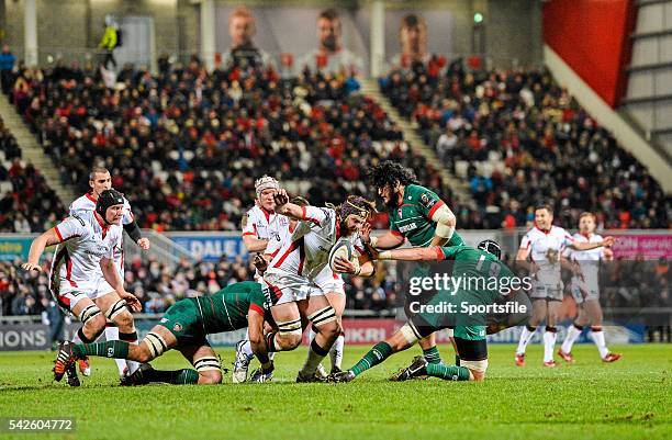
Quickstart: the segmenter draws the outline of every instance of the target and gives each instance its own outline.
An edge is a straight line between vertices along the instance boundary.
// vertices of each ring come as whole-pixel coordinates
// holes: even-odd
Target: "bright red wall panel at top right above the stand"
[[[635,29],[634,0],[550,0],[544,42],[612,109],[625,94]]]

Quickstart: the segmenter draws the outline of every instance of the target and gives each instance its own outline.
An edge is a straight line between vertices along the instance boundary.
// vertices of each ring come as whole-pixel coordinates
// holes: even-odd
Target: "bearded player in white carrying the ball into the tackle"
[[[290,239],[269,263],[264,282],[271,291],[271,313],[278,331],[267,335],[269,351],[293,350],[301,343],[302,321],[311,321],[317,335],[309,357],[296,376],[296,382],[314,382],[317,365],[328,354],[341,332],[334,307],[316,284],[317,277],[327,266],[328,252],[341,237],[356,242],[357,233],[376,207],[372,202],[349,195],[338,206],[299,206],[290,203],[287,191],[276,195],[276,211],[299,221]],[[373,264],[361,257],[358,273],[373,273]]]

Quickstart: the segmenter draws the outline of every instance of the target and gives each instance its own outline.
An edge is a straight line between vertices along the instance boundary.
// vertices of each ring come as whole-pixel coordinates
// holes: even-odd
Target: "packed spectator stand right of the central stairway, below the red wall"
[[[582,211],[605,228],[671,225],[670,199],[549,72],[469,71],[460,60],[429,67],[392,69],[380,87],[469,182],[478,208],[459,225],[525,226],[529,207],[549,201],[565,227]]]

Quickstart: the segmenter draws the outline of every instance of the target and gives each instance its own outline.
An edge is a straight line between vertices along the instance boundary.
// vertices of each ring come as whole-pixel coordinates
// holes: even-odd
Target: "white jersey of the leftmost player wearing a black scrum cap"
[[[72,287],[87,284],[102,277],[101,258],[113,259],[121,251],[123,227],[99,222],[93,211],[69,216],[54,229],[60,244],[54,252],[49,273],[53,284],[55,281]]]

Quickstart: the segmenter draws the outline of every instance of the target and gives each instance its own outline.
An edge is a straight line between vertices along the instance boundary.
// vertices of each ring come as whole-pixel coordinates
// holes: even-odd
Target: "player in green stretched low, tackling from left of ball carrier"
[[[177,371],[154,370],[144,364],[131,374],[123,385],[144,385],[150,382],[170,384],[217,384],[222,382],[220,359],[205,338],[210,334],[249,328],[249,340],[261,362],[257,382],[269,380],[273,363],[268,359],[264,340],[264,318],[268,298],[259,283],[243,281],[228,285],[212,296],[178,301],[170,306],[160,323],[147,334],[139,346],[121,340],[61,345],[56,364],[67,369],[86,356],[149,362],[164,352],[176,349],[195,368]]]

